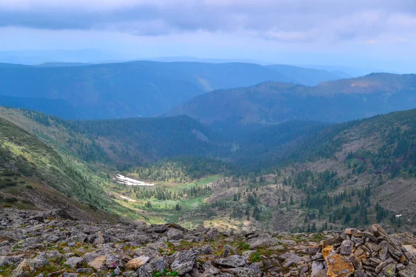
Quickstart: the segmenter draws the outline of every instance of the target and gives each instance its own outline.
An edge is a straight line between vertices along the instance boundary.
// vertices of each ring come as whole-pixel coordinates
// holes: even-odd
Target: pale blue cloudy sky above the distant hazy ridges
[[[101,49],[416,73],[415,0],[0,0],[0,51]]]

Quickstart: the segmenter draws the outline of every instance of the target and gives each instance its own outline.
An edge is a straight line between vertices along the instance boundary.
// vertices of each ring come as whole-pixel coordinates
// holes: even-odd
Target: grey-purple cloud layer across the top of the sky
[[[2,0],[0,26],[133,35],[245,33],[283,42],[413,35],[414,0]],[[407,32],[407,33],[406,33]]]

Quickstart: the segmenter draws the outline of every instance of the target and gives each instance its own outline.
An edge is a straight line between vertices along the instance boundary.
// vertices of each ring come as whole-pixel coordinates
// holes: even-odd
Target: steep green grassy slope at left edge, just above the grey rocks
[[[0,136],[0,202],[21,208],[64,208],[73,217],[88,220],[112,219],[96,207],[116,204],[82,163],[3,118]]]

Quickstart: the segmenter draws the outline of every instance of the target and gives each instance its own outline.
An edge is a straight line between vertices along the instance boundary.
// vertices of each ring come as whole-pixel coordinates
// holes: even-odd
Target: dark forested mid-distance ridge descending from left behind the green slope
[[[187,116],[78,121],[0,107],[0,117],[73,157],[110,168],[187,155],[218,157],[230,152],[219,134]]]

